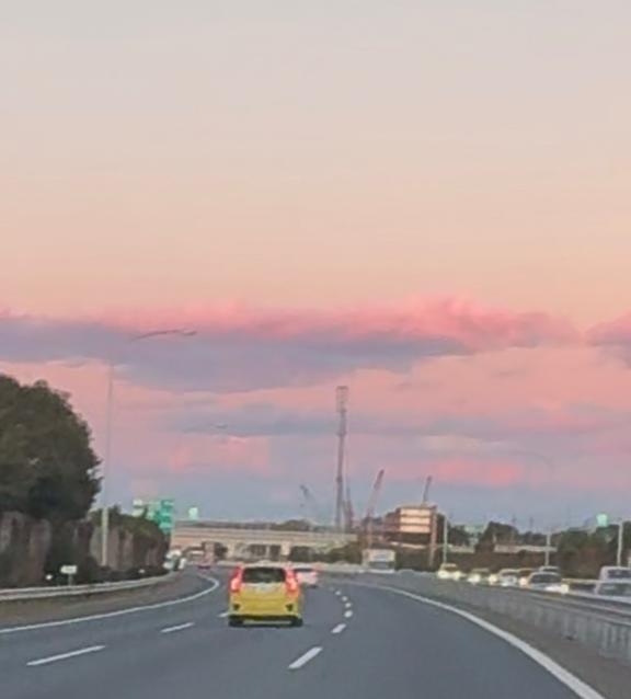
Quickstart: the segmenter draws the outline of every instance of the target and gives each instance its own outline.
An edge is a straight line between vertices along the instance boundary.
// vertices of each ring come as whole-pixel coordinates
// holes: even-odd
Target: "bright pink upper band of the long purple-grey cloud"
[[[262,310],[227,303],[172,311],[130,311],[103,317],[97,322],[129,331],[185,326],[200,333],[236,333],[277,340],[333,336],[346,341],[382,337],[395,342],[440,337],[461,343],[471,352],[567,342],[578,337],[567,320],[546,312],[486,309],[461,299],[342,310]]]

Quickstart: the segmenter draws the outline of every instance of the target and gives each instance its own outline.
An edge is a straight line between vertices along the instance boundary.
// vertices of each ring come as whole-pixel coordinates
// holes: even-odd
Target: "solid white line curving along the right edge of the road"
[[[436,607],[438,609],[444,609],[445,611],[450,611],[462,619],[467,619],[471,623],[484,629],[489,633],[496,635],[497,638],[506,641],[509,645],[513,645],[518,651],[521,651],[524,655],[527,655],[529,658],[535,661],[538,665],[543,667],[547,672],[549,672],[553,677],[555,677],[561,684],[565,685],[569,689],[571,689],[580,699],[606,699],[600,692],[596,691],[593,687],[584,683],[582,679],[573,675],[570,671],[565,669],[563,666],[559,665],[551,657],[542,653],[535,646],[526,643],[521,639],[517,638],[513,633],[508,631],[504,631],[500,627],[496,627],[484,619],[477,617],[474,614],[469,611],[464,611],[463,609],[459,609],[458,607],[452,607],[451,605],[447,605],[443,601],[437,601],[435,599],[429,599],[428,597],[423,597],[422,595],[415,595],[413,593],[409,593],[405,589],[398,589],[397,587],[388,587],[374,585],[371,586],[374,589],[387,589],[389,592],[395,593],[397,595],[401,595],[403,597],[410,597],[411,599],[415,599],[416,601],[421,601],[424,605],[429,605],[431,607]]]

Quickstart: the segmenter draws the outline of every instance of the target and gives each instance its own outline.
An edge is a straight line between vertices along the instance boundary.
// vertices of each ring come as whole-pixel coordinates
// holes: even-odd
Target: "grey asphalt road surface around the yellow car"
[[[403,595],[331,581],[307,592],[302,628],[232,629],[225,618],[225,586],[210,587],[187,601],[130,614],[0,628],[0,696],[588,697],[505,640]]]

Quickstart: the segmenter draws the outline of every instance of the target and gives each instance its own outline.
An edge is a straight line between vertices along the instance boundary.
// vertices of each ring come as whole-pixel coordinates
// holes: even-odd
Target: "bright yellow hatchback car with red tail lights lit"
[[[302,593],[291,568],[253,563],[234,571],[229,587],[228,623],[288,621],[302,626]]]

